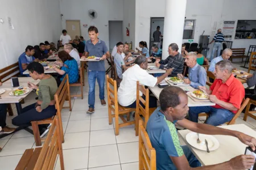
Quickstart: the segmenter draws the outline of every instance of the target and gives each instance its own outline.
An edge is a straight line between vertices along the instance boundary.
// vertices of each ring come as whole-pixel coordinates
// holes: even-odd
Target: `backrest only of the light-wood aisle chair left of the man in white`
[[[110,84],[112,85],[113,88],[110,87]],[[114,111],[118,112],[117,81],[110,78],[109,75],[106,75],[106,86],[107,86],[107,94],[108,94],[108,105]]]

